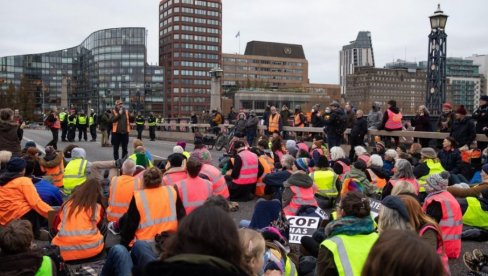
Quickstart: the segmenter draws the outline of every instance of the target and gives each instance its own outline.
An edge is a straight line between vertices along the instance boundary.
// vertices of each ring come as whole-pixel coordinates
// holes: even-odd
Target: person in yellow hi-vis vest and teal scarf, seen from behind
[[[346,194],[337,210],[339,218],[325,227],[327,239],[319,247],[316,275],[361,275],[378,238],[370,211],[364,194]]]

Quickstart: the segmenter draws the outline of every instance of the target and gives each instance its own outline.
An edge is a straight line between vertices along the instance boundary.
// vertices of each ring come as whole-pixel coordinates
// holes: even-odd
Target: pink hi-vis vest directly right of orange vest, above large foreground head
[[[212,183],[201,177],[188,177],[176,183],[186,214],[190,214],[212,195]]]

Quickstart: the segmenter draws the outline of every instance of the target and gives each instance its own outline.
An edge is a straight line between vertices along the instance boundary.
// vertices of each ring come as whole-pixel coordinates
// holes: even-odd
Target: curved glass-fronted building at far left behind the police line
[[[146,37],[145,28],[105,29],[72,48],[0,57],[0,93],[29,95],[38,115],[54,106],[100,113],[117,99],[162,113],[164,72],[147,64]]]

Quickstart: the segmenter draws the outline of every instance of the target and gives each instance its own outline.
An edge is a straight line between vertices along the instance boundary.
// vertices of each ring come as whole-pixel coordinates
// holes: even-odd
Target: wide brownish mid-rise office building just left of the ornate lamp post
[[[347,100],[366,114],[373,102],[383,110],[389,100],[396,100],[404,115],[414,115],[425,104],[426,72],[390,64],[393,68],[356,68],[347,76]]]

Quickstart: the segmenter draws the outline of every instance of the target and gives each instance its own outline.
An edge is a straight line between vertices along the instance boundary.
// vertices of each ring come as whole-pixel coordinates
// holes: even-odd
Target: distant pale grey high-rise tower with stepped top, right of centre
[[[342,47],[339,52],[339,84],[341,95],[346,95],[346,76],[354,74],[356,67],[374,67],[371,33],[362,31],[356,40]]]

